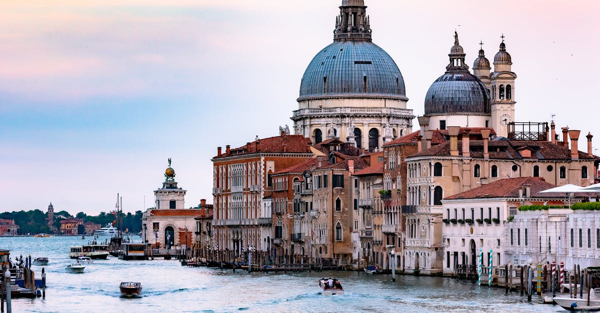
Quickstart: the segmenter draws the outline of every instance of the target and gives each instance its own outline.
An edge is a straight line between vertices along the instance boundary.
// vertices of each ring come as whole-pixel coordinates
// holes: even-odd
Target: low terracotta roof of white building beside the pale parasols
[[[556,187],[555,185],[548,183],[542,177],[517,177],[500,179],[495,182],[488,183],[481,187],[470,189],[469,191],[461,192],[460,194],[451,195],[446,197],[446,200],[456,199],[472,199],[472,198],[516,198],[519,196],[519,187],[523,187],[523,193],[525,192],[524,186],[530,185],[532,197],[557,197],[554,194],[539,194],[540,191],[544,191],[550,188]],[[564,194],[558,195],[558,197],[565,197]]]

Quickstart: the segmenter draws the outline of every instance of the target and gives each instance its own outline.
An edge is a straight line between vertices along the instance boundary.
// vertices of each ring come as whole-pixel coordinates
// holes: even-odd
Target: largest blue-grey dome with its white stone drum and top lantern
[[[340,139],[374,151],[412,131],[404,79],[394,60],[371,41],[364,0],[343,0],[334,42],[310,62],[300,85],[294,133],[313,143]]]

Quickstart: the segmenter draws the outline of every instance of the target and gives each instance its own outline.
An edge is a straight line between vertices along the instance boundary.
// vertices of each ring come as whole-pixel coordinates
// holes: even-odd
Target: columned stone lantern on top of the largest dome
[[[364,0],[342,0],[335,17],[334,41],[371,41],[371,23]]]

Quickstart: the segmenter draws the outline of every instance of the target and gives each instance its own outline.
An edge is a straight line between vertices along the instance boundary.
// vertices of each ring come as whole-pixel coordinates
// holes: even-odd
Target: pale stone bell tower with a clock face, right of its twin
[[[491,84],[491,127],[497,136],[508,137],[508,124],[515,121],[515,79],[511,70],[512,58],[506,52],[504,35],[500,51],[494,56],[494,72],[490,74]]]

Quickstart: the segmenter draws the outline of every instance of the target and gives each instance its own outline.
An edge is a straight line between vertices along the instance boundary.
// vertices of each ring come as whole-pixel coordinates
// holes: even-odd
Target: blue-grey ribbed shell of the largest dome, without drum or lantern
[[[335,41],[310,62],[298,101],[368,97],[407,101],[404,79],[394,60],[371,41]]]

